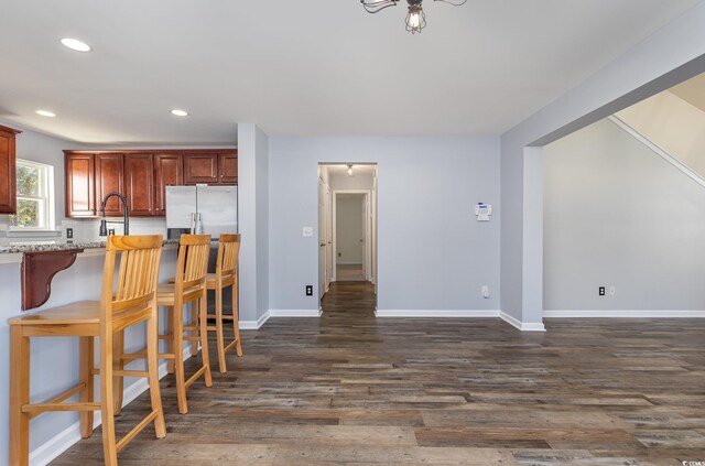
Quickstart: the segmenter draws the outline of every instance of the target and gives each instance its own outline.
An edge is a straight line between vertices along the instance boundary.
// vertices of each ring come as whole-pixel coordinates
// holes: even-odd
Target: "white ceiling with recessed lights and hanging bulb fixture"
[[[231,144],[239,121],[275,136],[500,134],[697,1],[426,0],[413,36],[404,6],[368,14],[359,0],[3,1],[0,120],[138,145]]]

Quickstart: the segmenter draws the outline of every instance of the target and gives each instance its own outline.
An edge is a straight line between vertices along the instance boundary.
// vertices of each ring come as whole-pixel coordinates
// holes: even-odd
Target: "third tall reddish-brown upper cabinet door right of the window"
[[[124,184],[129,214],[135,217],[154,215],[154,155],[124,155]]]

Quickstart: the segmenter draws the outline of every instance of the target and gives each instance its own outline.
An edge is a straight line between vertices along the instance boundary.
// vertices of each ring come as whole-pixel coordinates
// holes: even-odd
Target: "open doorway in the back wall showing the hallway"
[[[318,299],[332,285],[377,295],[377,164],[318,165]],[[325,310],[324,310],[325,311]]]

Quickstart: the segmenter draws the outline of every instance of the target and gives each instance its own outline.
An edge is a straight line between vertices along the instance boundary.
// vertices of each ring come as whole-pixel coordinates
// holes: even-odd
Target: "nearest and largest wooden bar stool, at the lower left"
[[[162,236],[110,236],[107,239],[100,301],[83,301],[8,321],[10,324],[10,464],[28,465],[30,420],[46,411],[80,411],[80,434],[93,434],[93,412],[102,415],[106,465],[150,422],[158,438],[166,435],[158,375],[156,285]],[[117,288],[113,277],[119,257]],[[117,290],[113,295],[113,289]],[[147,370],[113,367],[113,334],[147,322]],[[30,403],[30,338],[80,337],[80,381],[46,403]],[[94,369],[94,337],[100,337],[98,370]],[[95,373],[100,373],[100,402],[94,401]],[[119,442],[115,433],[113,382],[123,377],[147,377],[152,411]],[[79,402],[66,403],[78,394]]]

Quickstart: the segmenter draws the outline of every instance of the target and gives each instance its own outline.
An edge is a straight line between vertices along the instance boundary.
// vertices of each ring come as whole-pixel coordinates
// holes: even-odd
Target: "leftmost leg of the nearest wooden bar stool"
[[[30,460],[30,416],[22,405],[30,402],[30,338],[20,326],[10,326],[10,464]]]

